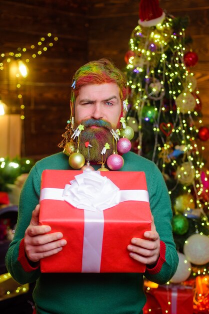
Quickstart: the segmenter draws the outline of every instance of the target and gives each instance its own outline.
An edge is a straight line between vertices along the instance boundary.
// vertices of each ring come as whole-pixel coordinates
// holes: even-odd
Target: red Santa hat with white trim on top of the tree
[[[162,23],[165,14],[159,8],[159,0],[140,0],[138,24],[151,27]]]

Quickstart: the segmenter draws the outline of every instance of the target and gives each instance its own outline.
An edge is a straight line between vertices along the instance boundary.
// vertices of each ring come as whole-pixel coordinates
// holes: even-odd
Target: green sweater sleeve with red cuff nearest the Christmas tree
[[[147,178],[147,188],[151,213],[160,238],[160,254],[153,268],[146,267],[144,276],[148,280],[164,284],[176,271],[178,255],[172,236],[172,210],[169,194],[164,179],[155,165],[152,177]]]

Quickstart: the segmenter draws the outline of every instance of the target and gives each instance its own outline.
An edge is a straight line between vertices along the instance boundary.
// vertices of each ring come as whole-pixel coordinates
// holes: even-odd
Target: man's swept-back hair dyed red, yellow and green
[[[71,89],[71,108],[79,89],[87,84],[116,83],[121,103],[126,99],[126,80],[123,73],[107,59],[91,61],[80,67],[74,74]]]

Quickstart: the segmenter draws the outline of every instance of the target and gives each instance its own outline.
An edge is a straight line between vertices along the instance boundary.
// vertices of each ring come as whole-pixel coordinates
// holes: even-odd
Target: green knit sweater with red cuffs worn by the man
[[[157,264],[154,268],[146,267],[144,276],[163,284],[172,277],[178,263],[167,188],[154,163],[132,152],[124,154],[123,158],[121,171],[143,171],[146,176],[150,209],[161,242]],[[99,167],[94,166],[95,170]],[[33,298],[38,314],[142,313],[145,295],[141,273],[41,273],[39,267],[32,268],[28,264],[22,239],[31,212],[39,202],[40,178],[44,169],[69,170],[67,156],[60,152],[37,162],[24,184],[15,235],[5,258],[12,277],[22,284],[36,281]]]

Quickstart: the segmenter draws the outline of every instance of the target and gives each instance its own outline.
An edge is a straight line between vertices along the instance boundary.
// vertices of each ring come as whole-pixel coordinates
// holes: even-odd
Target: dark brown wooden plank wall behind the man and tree
[[[199,61],[193,68],[202,102],[203,123],[209,127],[209,3],[208,0],[161,0],[160,7],[175,17],[189,16],[186,35]],[[0,71],[0,95],[9,112],[24,114],[22,156],[36,160],[59,151],[69,117],[72,74],[90,60],[110,58],[124,69],[124,54],[138,21],[139,0],[25,0],[0,1],[0,54],[25,47],[29,75],[18,82],[9,65]],[[53,47],[32,58],[30,46],[41,37]],[[53,41],[58,37],[58,41]],[[47,39],[47,40],[46,40]],[[44,43],[44,44],[45,44]],[[37,51],[37,49],[36,49]],[[1,57],[0,60],[3,58]],[[1,61],[0,61],[1,62]],[[24,111],[17,94],[23,95]],[[204,158],[209,153],[205,143]]]

